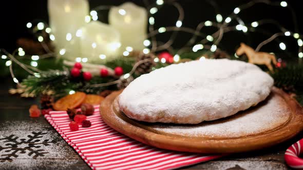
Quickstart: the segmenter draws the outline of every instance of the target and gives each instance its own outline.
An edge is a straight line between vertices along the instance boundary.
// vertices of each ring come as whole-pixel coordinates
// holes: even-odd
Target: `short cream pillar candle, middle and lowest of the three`
[[[81,56],[87,62],[102,62],[119,57],[120,33],[110,25],[92,21],[79,30]]]

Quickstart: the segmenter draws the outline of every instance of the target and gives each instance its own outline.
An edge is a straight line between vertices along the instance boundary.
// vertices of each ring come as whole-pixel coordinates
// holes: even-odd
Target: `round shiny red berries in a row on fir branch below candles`
[[[82,65],[80,62],[74,63],[73,68],[70,70],[70,74],[72,77],[79,77],[81,75],[81,69]],[[121,76],[123,74],[123,69],[122,67],[116,67],[115,68],[115,75]],[[92,77],[91,73],[86,71],[82,73],[83,79],[86,81],[89,81]],[[108,70],[105,68],[102,68],[100,70],[100,76],[101,77],[107,77],[108,76]]]

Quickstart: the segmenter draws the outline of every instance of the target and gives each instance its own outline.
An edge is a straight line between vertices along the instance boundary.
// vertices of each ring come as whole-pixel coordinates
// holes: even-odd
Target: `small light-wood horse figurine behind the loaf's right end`
[[[241,42],[240,47],[236,51],[236,54],[240,56],[243,53],[247,55],[248,62],[257,65],[266,65],[271,72],[274,70],[271,62],[273,62],[274,65],[277,64],[276,57],[273,54],[266,52],[256,52],[253,48]]]

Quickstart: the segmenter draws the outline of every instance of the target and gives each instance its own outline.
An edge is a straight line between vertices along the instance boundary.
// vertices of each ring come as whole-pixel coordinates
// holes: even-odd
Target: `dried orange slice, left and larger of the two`
[[[67,95],[53,105],[53,109],[56,111],[66,111],[67,109],[74,109],[80,107],[83,103],[86,94],[83,92],[75,92],[74,94]]]

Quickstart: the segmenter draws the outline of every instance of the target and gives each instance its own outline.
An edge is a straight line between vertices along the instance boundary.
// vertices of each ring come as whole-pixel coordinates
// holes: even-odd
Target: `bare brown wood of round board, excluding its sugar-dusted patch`
[[[264,130],[263,132],[258,132],[256,134],[242,136],[230,135],[222,137],[212,137],[207,135],[200,135],[197,137],[188,136],[188,134],[166,133],[155,128],[155,123],[132,120],[119,110],[117,97],[121,92],[122,91],[113,92],[103,100],[100,105],[100,113],[103,120],[111,126],[111,128],[130,138],[167,150],[195,153],[247,152],[281,143],[292,138],[303,130],[303,109],[295,99],[277,88],[272,89],[271,95],[267,100],[279,99],[279,102],[282,102],[281,104],[277,104],[276,107],[278,108],[283,106],[284,110],[281,109],[281,111],[285,111],[285,109],[287,109],[287,118],[285,121],[279,123],[271,130]],[[267,107],[270,102],[267,100],[258,104],[254,109],[235,114],[235,117],[230,116],[223,120],[219,119],[215,121],[202,122],[200,124],[201,126],[203,123],[220,124],[222,121],[227,122],[230,119],[237,119],[238,114],[253,114],[255,110],[258,110],[258,108]],[[262,116],[260,116],[260,119],[262,119]],[[161,123],[161,126],[172,126],[172,124]],[[188,129],[188,125],[186,124],[179,124],[178,126],[186,126]]]

